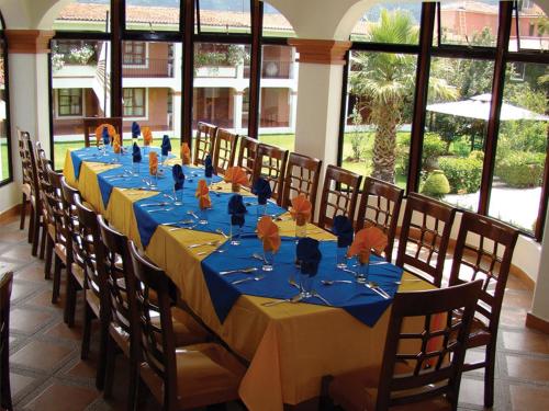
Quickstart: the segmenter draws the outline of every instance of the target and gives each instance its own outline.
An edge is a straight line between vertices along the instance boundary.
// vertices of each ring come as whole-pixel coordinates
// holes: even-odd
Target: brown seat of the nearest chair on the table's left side
[[[178,409],[192,409],[238,398],[245,367],[224,347],[214,343],[176,349]],[[141,376],[155,398],[164,403],[164,381],[147,363]]]

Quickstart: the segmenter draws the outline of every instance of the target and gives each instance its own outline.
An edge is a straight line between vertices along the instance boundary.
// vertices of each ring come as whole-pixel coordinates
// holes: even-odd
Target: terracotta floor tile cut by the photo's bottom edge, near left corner
[[[81,411],[100,393],[82,387],[55,383],[29,403],[25,410],[36,411]]]

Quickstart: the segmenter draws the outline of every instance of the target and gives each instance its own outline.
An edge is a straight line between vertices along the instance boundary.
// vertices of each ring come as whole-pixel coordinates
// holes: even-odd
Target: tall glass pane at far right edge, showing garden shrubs
[[[547,65],[508,64],[489,214],[534,231],[547,149]],[[520,75],[518,75],[520,72]]]

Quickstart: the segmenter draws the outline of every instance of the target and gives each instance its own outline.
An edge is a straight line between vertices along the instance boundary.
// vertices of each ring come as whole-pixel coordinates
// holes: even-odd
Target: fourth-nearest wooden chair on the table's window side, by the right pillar
[[[322,189],[320,227],[330,228],[334,217],[338,215],[354,220],[361,181],[361,175],[340,167],[328,165]]]

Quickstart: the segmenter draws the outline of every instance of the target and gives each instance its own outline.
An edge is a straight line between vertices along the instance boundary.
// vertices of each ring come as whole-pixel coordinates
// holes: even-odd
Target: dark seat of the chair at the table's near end
[[[396,374],[407,373],[411,373],[407,365],[396,363]],[[329,385],[329,396],[336,404],[346,411],[376,410],[379,375],[379,367],[368,367],[337,376]],[[408,392],[406,391],[406,393]],[[428,401],[391,407],[391,410],[442,411],[451,410],[451,404],[444,398],[435,398]]]

